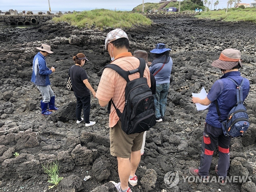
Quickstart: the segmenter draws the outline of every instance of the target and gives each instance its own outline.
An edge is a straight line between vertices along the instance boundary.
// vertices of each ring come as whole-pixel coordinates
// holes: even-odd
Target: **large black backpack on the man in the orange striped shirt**
[[[121,121],[121,128],[127,135],[148,131],[156,124],[154,97],[147,84],[147,79],[143,77],[146,62],[142,58],[138,59],[140,60],[140,66],[131,71],[125,71],[115,64],[104,67],[115,70],[127,81],[123,113],[116,108],[112,99],[108,106],[108,113],[110,113],[111,102],[113,103]],[[137,72],[140,72],[140,78],[130,81],[128,76]]]

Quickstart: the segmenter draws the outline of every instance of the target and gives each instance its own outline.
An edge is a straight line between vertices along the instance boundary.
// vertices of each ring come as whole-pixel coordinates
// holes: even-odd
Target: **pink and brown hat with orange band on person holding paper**
[[[233,67],[236,67],[238,63],[242,67],[241,52],[237,49],[224,49],[221,52],[219,59],[213,61],[211,66],[230,70],[233,69]]]

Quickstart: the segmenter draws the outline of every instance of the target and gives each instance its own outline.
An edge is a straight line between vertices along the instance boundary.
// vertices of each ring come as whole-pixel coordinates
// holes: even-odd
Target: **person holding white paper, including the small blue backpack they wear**
[[[218,175],[219,184],[226,185],[227,170],[230,164],[229,144],[231,137],[242,135],[243,130],[248,129],[249,125],[243,101],[249,94],[250,83],[238,71],[242,67],[239,50],[223,50],[219,59],[213,61],[211,65],[220,68],[223,76],[212,85],[205,99],[192,97],[193,103],[210,104],[210,106],[203,132],[200,165],[198,169],[190,167],[189,173],[204,183],[209,182],[208,175],[212,155],[218,143],[219,161],[218,165],[215,166],[215,172]],[[238,110],[239,107],[241,109]],[[232,120],[234,116],[237,119]],[[228,121],[233,121],[233,123],[229,125]]]

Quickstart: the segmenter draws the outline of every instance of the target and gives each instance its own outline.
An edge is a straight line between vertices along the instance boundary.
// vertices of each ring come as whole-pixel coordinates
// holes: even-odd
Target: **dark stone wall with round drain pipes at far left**
[[[41,24],[57,15],[0,15],[0,26],[29,26]],[[58,16],[57,16],[58,17]]]

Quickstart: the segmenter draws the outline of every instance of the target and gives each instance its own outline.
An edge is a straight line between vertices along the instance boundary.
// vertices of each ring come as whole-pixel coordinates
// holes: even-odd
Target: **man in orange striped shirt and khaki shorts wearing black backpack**
[[[122,29],[108,33],[105,48],[112,62],[103,70],[96,97],[100,106],[109,104],[110,153],[117,157],[120,178],[112,183],[119,192],[131,192],[128,182],[137,185],[143,133],[155,124],[150,72],[144,59],[128,52],[129,39]]]

